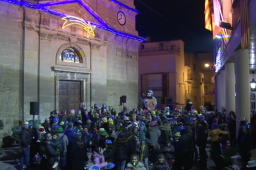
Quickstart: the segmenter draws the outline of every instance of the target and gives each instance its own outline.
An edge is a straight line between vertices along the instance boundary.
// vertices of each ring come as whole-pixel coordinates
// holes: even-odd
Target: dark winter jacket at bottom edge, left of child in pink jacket
[[[89,160],[86,150],[77,149],[71,156],[71,167],[75,170],[84,170],[85,163]]]

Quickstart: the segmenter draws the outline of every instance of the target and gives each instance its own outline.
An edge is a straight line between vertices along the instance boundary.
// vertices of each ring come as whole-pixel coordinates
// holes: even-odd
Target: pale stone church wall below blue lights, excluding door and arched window
[[[40,102],[35,119],[41,121],[58,110],[60,79],[82,81],[81,102],[88,107],[106,103],[119,111],[121,95],[127,95],[128,108],[137,107],[139,41],[100,28],[86,38],[79,26],[62,30],[60,17],[2,1],[0,15],[0,139],[32,119],[30,102]],[[79,48],[83,63],[59,61],[65,47]]]

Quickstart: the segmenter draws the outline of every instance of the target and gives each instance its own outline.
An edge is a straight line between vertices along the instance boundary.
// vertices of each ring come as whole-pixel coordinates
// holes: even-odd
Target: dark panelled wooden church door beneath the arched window
[[[59,81],[59,111],[80,109],[81,103],[81,82],[80,81]]]

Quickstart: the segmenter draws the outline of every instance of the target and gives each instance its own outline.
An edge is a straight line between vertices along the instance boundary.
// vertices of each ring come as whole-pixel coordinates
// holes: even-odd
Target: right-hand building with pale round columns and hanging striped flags
[[[206,1],[205,7],[206,21],[212,19],[206,28],[215,39],[216,106],[218,110],[226,108],[226,113],[236,111],[239,126],[239,119],[250,121],[255,110],[250,81],[256,68],[256,1]]]

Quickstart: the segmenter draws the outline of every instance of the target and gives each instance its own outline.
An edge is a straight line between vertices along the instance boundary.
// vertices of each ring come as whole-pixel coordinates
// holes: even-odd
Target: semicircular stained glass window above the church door
[[[68,48],[62,51],[61,56],[59,56],[59,60],[62,62],[80,63],[79,55],[72,48]]]

